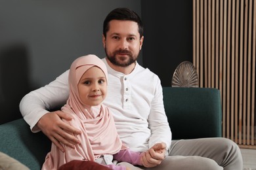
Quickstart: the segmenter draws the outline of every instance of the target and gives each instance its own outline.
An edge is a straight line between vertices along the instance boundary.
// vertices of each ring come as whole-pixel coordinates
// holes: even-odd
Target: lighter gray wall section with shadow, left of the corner
[[[20,118],[20,99],[75,58],[105,56],[102,24],[116,7],[141,10],[138,0],[0,1],[0,124]]]

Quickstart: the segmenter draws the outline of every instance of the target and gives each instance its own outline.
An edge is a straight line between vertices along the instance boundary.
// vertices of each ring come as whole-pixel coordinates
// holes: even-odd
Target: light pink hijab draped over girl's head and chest
[[[75,135],[81,144],[76,144],[75,148],[62,144],[65,152],[61,152],[52,144],[42,169],[57,169],[72,160],[95,161],[102,154],[116,154],[121,148],[126,148],[117,135],[114,118],[108,108],[104,105],[84,105],[79,98],[77,84],[83,73],[94,66],[102,69],[106,79],[108,78],[106,65],[97,56],[88,55],[75,59],[70,67],[68,79],[70,97],[62,107],[62,111],[74,117],[71,121],[64,122],[82,131],[81,135]]]

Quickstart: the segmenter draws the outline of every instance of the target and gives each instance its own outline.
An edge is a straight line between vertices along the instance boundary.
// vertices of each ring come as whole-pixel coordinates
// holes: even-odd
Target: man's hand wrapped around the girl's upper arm
[[[74,135],[71,134],[78,135],[81,131],[66,124],[61,118],[72,120],[72,116],[58,110],[43,115],[37,122],[37,126],[62,152],[64,152],[64,148],[60,143],[74,148],[74,144],[80,143],[80,141],[77,141]]]

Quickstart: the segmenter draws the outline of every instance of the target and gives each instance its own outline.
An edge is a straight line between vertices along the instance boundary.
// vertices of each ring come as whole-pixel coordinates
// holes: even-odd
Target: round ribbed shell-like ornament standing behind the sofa
[[[198,73],[190,61],[183,61],[178,65],[171,80],[172,87],[198,88]]]

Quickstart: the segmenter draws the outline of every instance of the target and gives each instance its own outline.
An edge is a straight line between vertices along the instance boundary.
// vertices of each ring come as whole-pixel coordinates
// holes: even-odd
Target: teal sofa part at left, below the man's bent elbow
[[[41,169],[51,141],[41,132],[32,133],[23,118],[0,125],[0,151],[30,169]]]

